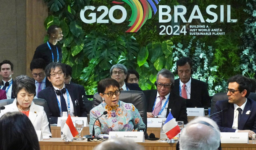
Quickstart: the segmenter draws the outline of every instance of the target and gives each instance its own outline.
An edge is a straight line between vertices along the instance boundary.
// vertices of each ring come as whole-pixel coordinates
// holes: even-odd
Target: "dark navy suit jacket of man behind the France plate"
[[[224,108],[228,108],[225,112],[212,115],[212,119],[219,126],[220,132],[235,132],[236,129],[232,129],[234,120],[234,104],[228,103],[228,100],[217,101],[215,104],[215,112],[219,112]],[[247,103],[243,110],[243,114],[240,120],[240,126],[242,130],[252,130],[256,132],[256,102],[247,98]],[[246,114],[247,111],[251,111],[250,114]]]

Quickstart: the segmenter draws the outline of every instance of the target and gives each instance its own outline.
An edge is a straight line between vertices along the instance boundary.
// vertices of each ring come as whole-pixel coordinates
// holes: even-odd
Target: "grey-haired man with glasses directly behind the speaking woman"
[[[136,83],[126,83],[125,78],[127,76],[127,68],[123,64],[115,64],[110,68],[110,76],[112,79],[115,79],[119,85],[121,90],[135,90],[142,91],[138,84]]]

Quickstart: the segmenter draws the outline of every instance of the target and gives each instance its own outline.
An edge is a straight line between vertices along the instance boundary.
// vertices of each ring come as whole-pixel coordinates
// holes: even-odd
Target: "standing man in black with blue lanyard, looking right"
[[[62,49],[57,45],[63,38],[62,29],[57,25],[50,25],[47,29],[49,41],[36,48],[33,59],[43,58],[46,65],[51,62],[61,62]]]

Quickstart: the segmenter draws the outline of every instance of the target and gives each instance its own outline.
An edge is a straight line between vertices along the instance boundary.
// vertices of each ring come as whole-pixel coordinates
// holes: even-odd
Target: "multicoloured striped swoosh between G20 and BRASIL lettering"
[[[160,2],[160,0],[122,0],[127,3],[131,7],[131,17],[129,21],[131,22],[128,27],[130,27],[126,32],[137,32],[148,19],[152,17],[152,10],[154,14],[157,12],[156,4]],[[123,2],[113,1],[115,4],[122,4]],[[151,6],[151,7],[150,7]]]

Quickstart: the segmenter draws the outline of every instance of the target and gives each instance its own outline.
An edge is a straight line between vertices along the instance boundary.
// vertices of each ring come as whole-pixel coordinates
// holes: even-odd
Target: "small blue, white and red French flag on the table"
[[[180,133],[180,127],[178,126],[175,118],[173,118],[171,112],[169,113],[165,120],[163,130],[169,139],[172,139],[173,137]]]

